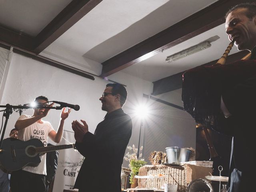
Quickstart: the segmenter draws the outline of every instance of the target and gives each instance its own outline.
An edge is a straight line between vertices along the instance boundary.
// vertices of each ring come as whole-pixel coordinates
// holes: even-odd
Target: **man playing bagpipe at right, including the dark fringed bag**
[[[198,66],[183,74],[184,109],[196,120],[232,136],[229,192],[255,191],[256,3],[242,3],[226,14],[226,33],[249,60]]]

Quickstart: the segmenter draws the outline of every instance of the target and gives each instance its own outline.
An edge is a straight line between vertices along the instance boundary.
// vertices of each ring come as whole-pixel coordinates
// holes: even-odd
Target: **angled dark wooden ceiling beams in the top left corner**
[[[36,37],[0,26],[0,42],[39,54],[102,0],[73,0]]]

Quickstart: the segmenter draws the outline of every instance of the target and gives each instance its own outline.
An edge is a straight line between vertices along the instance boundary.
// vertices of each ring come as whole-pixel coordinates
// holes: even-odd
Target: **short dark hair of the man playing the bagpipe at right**
[[[228,12],[225,15],[225,19],[228,17],[228,14],[230,12],[238,9],[238,8],[247,8],[247,11],[244,13],[248,18],[252,19],[256,15],[256,3],[255,2],[248,2],[248,3],[240,3],[236,6],[233,6],[228,10]]]

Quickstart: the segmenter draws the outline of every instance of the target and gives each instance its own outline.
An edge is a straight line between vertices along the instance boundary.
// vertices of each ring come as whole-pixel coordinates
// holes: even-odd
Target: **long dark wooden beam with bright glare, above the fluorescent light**
[[[231,6],[253,0],[219,0],[214,4],[200,10],[188,18],[170,26],[166,30],[136,44],[124,52],[102,63],[103,78],[114,74],[132,64],[143,61],[150,56],[158,54],[180,44],[198,34],[206,32],[225,22],[224,15]]]

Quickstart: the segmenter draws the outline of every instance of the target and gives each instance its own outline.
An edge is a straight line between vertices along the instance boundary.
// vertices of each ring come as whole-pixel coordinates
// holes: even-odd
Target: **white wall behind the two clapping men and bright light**
[[[133,131],[129,145],[138,146],[138,136],[140,130],[140,119],[134,115],[134,108],[145,101],[143,94],[152,92],[153,84],[151,82],[130,76],[123,72],[118,72],[108,77],[110,80],[126,85],[128,91],[128,99],[124,105],[124,111],[132,117]],[[37,62],[30,58],[13,54],[12,61],[6,85],[4,88],[1,105],[25,104],[30,103],[40,95],[45,95],[49,100],[58,100],[71,104],[80,105],[79,111],[70,113],[65,122],[64,129],[72,131],[71,122],[73,120],[86,120],[89,131],[94,132],[97,124],[103,120],[106,112],[101,110],[101,102],[98,100],[104,91],[107,80],[95,77],[95,80],[60,70],[58,68]],[[56,105],[58,106],[58,105]],[[154,150],[164,150],[164,147],[181,145],[184,147],[195,147],[195,131],[191,129],[191,119],[186,116],[183,111],[176,111],[170,106],[153,102],[153,108],[161,113],[158,116],[151,116],[150,120],[142,128],[141,145],[145,144],[144,158],[148,158],[148,152]],[[171,114],[176,113],[176,116]],[[32,109],[24,111],[24,114],[33,114]],[[177,118],[177,116],[179,116]],[[13,112],[8,120],[5,138],[19,117],[19,113]],[[185,119],[184,119],[185,117]],[[52,123],[55,130],[58,128],[60,120],[60,110],[51,110],[50,115],[44,118]],[[148,130],[158,130],[158,133],[164,135],[162,139],[150,136]],[[146,129],[144,131],[144,129]],[[186,131],[188,129],[188,132]],[[193,132],[194,131],[194,132]],[[144,134],[145,133],[145,134]],[[178,139],[174,139],[174,138]],[[149,144],[151,141],[152,144]],[[177,143],[177,144],[176,144]],[[181,147],[183,147],[181,146]],[[128,162],[124,161],[124,166],[128,166]]]

